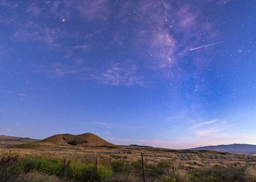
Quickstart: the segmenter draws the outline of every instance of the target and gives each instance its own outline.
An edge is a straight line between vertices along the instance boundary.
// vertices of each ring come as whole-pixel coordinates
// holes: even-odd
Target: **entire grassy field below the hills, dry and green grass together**
[[[147,146],[20,143],[0,144],[0,181],[143,181],[141,153],[146,181],[256,181],[256,157],[249,155]],[[97,173],[95,157],[99,159]]]

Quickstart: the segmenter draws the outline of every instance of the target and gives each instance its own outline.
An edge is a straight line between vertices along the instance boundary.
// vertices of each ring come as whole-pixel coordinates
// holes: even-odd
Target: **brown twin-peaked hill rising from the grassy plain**
[[[67,143],[72,146],[83,145],[83,146],[115,146],[108,141],[99,138],[97,135],[92,133],[84,133],[81,135],[71,135],[71,134],[58,134],[53,135],[49,138],[45,138],[40,141],[41,143]]]

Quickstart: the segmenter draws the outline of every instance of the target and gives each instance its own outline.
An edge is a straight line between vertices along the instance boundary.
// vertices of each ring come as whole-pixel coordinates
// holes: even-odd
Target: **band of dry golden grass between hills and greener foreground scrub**
[[[0,141],[2,143],[2,141]],[[20,143],[23,143],[21,141]],[[23,148],[23,149],[20,149]],[[211,167],[220,166],[244,166],[256,165],[256,157],[242,154],[228,154],[217,151],[189,151],[189,150],[170,150],[158,149],[143,146],[117,146],[106,148],[99,146],[72,146],[68,144],[59,145],[58,143],[26,143],[21,146],[18,141],[9,141],[0,144],[0,151],[15,152],[21,157],[28,155],[46,156],[58,159],[73,159],[78,162],[86,162],[94,159],[94,154],[101,161],[113,161],[122,159],[124,161],[140,160],[140,153],[148,164],[157,162],[173,162],[177,166],[187,167]]]

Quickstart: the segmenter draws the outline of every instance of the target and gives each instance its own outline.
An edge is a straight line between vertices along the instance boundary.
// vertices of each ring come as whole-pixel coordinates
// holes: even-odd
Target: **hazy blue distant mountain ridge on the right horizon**
[[[222,151],[233,154],[256,154],[256,145],[251,144],[230,144],[230,145],[219,145],[219,146],[202,146],[196,147],[189,150],[210,150],[210,151]]]

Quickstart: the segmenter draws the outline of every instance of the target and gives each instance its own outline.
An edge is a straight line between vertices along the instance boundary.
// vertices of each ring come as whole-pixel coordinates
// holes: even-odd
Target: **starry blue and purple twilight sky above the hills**
[[[256,2],[0,1],[0,133],[256,144]]]

